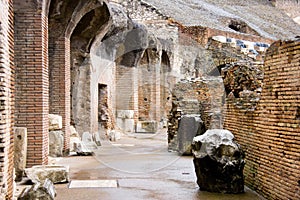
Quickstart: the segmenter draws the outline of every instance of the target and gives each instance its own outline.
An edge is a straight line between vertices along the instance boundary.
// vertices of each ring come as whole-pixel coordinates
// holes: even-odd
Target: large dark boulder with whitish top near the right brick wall
[[[200,190],[244,192],[244,152],[228,130],[212,129],[193,139],[192,151]]]

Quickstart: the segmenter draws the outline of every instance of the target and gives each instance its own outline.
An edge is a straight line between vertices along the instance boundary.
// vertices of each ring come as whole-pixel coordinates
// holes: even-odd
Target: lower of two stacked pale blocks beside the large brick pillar
[[[62,131],[49,132],[49,156],[63,156],[64,133]]]

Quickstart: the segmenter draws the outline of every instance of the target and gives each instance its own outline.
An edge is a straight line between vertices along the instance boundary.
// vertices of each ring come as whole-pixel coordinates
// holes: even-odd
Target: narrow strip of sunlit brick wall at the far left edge
[[[11,199],[15,81],[12,1],[1,0],[0,8],[0,199]]]

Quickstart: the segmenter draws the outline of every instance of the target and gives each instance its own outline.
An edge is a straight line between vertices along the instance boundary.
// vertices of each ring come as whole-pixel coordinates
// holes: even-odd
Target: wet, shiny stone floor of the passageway
[[[56,184],[56,200],[259,200],[247,187],[238,195],[200,191],[191,156],[167,151],[166,133],[103,140],[94,156],[57,159],[70,166],[70,183]]]

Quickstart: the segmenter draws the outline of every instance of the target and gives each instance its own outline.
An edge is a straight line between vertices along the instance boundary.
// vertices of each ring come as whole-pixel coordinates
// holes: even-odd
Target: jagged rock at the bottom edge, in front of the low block
[[[24,188],[18,200],[54,200],[56,191],[53,183],[46,179],[43,183],[35,183],[30,188]]]

